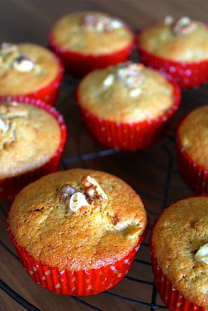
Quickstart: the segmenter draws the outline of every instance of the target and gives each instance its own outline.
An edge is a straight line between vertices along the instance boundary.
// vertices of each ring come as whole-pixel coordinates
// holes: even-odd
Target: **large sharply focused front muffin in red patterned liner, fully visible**
[[[22,189],[7,227],[36,283],[62,295],[86,296],[123,279],[146,224],[140,197],[124,181],[100,171],[70,169]]]

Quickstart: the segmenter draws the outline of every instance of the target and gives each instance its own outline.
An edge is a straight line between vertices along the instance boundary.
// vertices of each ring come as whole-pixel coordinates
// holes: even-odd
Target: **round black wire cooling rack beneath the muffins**
[[[113,289],[88,297],[57,295],[33,282],[22,268],[5,225],[10,202],[0,201],[0,310],[167,310],[154,287],[148,239],[153,219],[161,210],[171,202],[193,194],[177,169],[174,132],[179,119],[186,113],[207,104],[207,86],[182,90],[181,106],[172,126],[155,146],[142,151],[121,152],[100,146],[85,131],[74,100],[78,82],[64,77],[56,105],[68,128],[60,169],[99,169],[125,180],[142,197],[147,207],[147,236],[128,275]]]

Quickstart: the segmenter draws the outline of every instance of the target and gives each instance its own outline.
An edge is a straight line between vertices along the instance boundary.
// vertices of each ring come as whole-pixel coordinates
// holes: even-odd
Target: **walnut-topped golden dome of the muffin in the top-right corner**
[[[207,27],[187,16],[177,20],[167,16],[141,31],[139,41],[148,52],[173,61],[207,59]]]

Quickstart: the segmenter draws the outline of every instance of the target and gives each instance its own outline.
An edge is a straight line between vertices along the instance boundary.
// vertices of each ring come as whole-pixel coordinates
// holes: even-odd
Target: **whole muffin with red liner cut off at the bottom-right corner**
[[[169,310],[208,307],[207,197],[190,197],[168,207],[150,237],[157,291]]]

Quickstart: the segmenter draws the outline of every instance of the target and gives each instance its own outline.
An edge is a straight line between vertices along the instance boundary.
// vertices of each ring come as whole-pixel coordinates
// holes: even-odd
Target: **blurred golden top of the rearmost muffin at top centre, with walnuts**
[[[106,54],[133,42],[133,33],[123,21],[100,12],[75,12],[63,16],[51,29],[56,43],[83,54]]]

